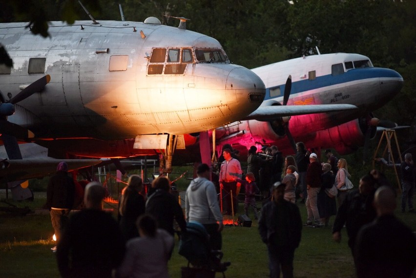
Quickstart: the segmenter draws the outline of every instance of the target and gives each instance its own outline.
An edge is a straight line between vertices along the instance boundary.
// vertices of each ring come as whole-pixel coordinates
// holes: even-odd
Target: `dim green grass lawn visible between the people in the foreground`
[[[1,200],[4,196],[0,196]],[[399,199],[398,199],[399,200]],[[35,193],[35,202],[13,202],[19,207],[31,209],[42,207],[45,202],[44,192]],[[0,206],[6,204],[0,203]],[[258,207],[261,205],[258,204]],[[302,219],[306,221],[305,205],[299,204]],[[243,212],[240,204],[240,214]],[[251,215],[252,212],[250,211]],[[238,214],[237,214],[238,215]],[[416,231],[416,214],[396,215]],[[237,217],[235,217],[237,220]],[[334,217],[331,222],[333,223]],[[50,216],[46,214],[28,214],[26,216],[10,216],[0,214],[0,278],[49,278],[59,277],[55,254],[50,248],[53,229]],[[268,257],[266,246],[261,242],[257,230],[257,221],[252,226],[225,227],[223,233],[223,261],[230,261],[226,271],[228,278],[267,278]],[[333,242],[330,228],[313,229],[304,227],[302,240],[295,252],[294,276],[296,278],[349,278],[354,277],[354,263],[347,246],[346,232],[340,244]],[[181,266],[187,260],[175,251],[169,261],[169,272],[172,278],[180,278]],[[216,277],[222,277],[217,274]]]

